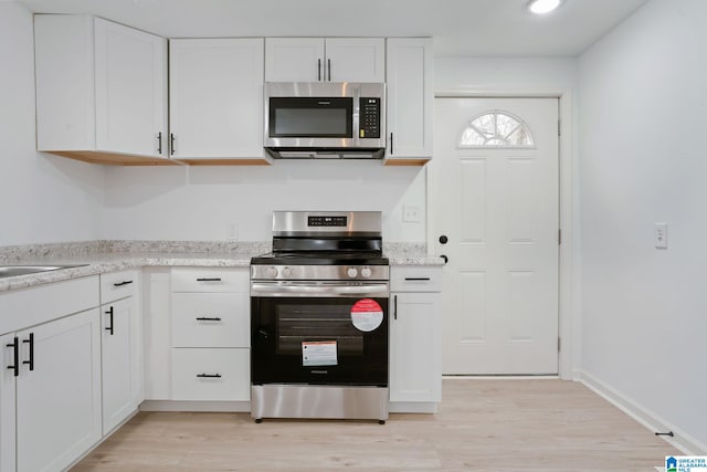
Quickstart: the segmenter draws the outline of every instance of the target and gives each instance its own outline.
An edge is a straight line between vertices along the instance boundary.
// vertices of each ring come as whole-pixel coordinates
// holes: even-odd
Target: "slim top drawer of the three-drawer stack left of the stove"
[[[177,268],[172,269],[172,292],[241,292],[250,291],[246,268]]]

